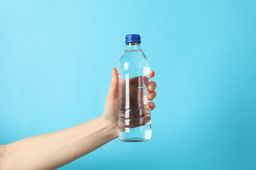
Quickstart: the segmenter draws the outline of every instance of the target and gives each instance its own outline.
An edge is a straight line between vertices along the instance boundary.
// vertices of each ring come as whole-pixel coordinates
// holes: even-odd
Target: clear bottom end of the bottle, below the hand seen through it
[[[151,124],[125,128],[125,131],[119,130],[119,139],[122,142],[146,142],[151,139],[151,133]]]

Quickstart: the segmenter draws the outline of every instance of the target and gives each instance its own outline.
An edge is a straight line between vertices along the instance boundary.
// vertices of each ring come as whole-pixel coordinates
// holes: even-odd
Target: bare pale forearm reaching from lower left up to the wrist
[[[77,126],[5,146],[3,169],[55,169],[115,139],[116,125],[97,117]]]

